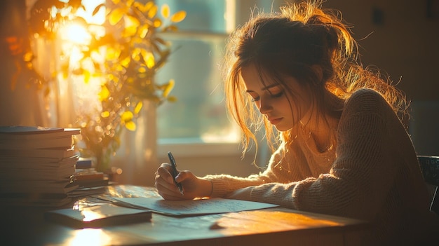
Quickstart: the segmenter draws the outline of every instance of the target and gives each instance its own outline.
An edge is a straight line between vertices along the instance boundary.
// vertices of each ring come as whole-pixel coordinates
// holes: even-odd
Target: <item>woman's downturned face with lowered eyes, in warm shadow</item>
[[[273,124],[277,130],[290,130],[299,121],[306,121],[310,115],[311,95],[293,77],[286,77],[284,83],[294,90],[285,92],[283,86],[273,78],[259,78],[256,67],[250,65],[241,71],[246,92],[252,97],[259,112]],[[295,95],[294,98],[292,95]]]

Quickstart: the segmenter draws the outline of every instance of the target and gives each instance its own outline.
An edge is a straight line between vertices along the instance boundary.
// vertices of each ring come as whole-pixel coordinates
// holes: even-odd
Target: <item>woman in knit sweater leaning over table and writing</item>
[[[405,97],[356,61],[349,28],[320,7],[315,1],[259,14],[229,38],[227,107],[245,150],[255,141],[250,125],[264,125],[269,146],[278,141],[266,170],[249,177],[180,171],[182,196],[163,163],[158,193],[363,219],[373,225],[365,245],[418,243],[436,218],[401,121]]]

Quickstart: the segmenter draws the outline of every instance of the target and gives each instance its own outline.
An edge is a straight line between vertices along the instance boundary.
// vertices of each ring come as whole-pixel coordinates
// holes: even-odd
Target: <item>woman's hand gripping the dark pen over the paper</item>
[[[191,200],[208,197],[212,193],[212,183],[208,179],[196,177],[191,171],[180,171],[175,182],[182,184],[184,196],[175,185],[169,163],[162,163],[156,172],[156,189],[165,200]]]

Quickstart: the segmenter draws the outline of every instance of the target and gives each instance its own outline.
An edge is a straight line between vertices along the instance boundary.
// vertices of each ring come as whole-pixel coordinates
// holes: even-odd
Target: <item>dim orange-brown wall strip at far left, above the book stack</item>
[[[24,63],[18,68],[29,48],[25,7],[24,0],[0,1],[0,125],[45,123],[32,74]]]

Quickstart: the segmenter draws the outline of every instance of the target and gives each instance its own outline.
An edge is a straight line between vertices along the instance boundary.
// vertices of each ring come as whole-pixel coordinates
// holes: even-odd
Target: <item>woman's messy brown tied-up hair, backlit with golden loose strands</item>
[[[261,81],[271,78],[292,98],[297,95],[282,78],[296,78],[313,92],[315,107],[324,116],[342,110],[327,103],[327,94],[346,100],[359,88],[377,90],[398,115],[405,114],[403,93],[381,78],[379,71],[362,67],[350,27],[340,13],[323,9],[321,4],[320,0],[306,1],[284,6],[281,13],[258,13],[229,36],[224,61],[226,102],[229,114],[243,130],[243,153],[250,139],[257,146],[251,129],[264,125],[269,146],[276,139],[273,126],[245,93],[241,71],[250,65],[257,68]],[[295,107],[294,102],[290,104]],[[283,142],[291,138],[289,131],[279,136]]]

